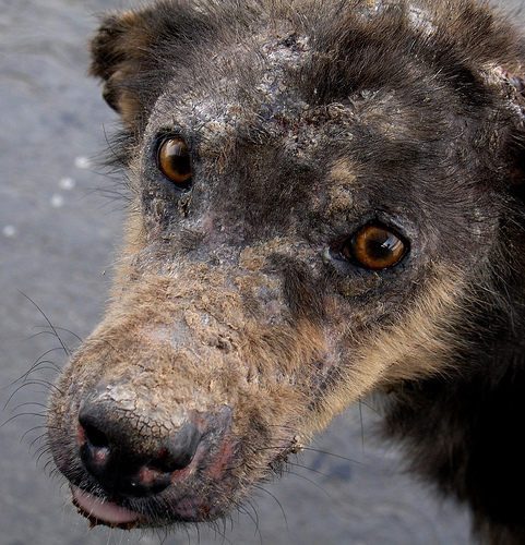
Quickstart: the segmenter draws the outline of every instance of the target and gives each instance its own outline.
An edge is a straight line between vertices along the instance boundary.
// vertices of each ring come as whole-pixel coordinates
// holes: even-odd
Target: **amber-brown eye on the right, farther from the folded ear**
[[[385,269],[398,263],[406,250],[405,242],[390,229],[368,225],[357,231],[342,254],[369,269]]]

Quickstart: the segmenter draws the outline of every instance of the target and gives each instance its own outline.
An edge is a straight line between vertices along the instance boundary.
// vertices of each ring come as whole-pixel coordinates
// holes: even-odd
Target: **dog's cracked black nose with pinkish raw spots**
[[[115,409],[96,402],[82,407],[82,463],[111,496],[147,497],[163,492],[172,473],[191,463],[201,433],[188,421],[172,433],[163,423],[148,422],[139,433],[136,423]]]

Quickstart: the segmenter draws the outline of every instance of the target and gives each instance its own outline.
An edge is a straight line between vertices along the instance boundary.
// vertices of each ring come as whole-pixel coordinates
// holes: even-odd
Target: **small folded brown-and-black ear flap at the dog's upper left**
[[[133,125],[144,112],[144,97],[134,82],[148,66],[152,49],[147,12],[129,12],[105,19],[91,44],[90,73],[100,77],[103,96],[126,123]]]

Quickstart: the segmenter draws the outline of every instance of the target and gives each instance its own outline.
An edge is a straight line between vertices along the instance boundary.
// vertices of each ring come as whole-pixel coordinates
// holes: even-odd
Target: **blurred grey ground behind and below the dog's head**
[[[94,13],[115,5],[0,0],[0,545],[469,543],[468,517],[403,474],[365,405],[215,529],[88,531],[75,513],[40,440],[52,365],[65,359],[47,319],[69,348],[90,332],[120,244],[121,203],[98,191],[115,181],[94,160],[115,117],[85,76]]]

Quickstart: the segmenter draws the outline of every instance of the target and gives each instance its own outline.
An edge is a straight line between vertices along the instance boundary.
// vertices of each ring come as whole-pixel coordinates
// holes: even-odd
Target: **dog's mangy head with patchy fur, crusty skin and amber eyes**
[[[133,204],[49,440],[96,522],[224,516],[351,401],[444,371],[499,244],[522,112],[497,23],[466,55],[466,8],[232,4],[94,40]]]

